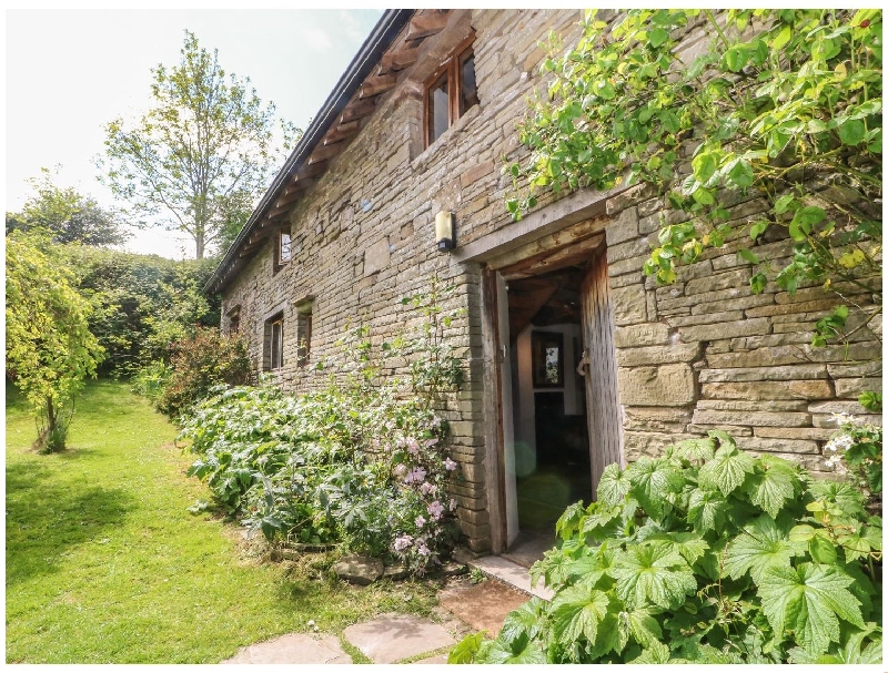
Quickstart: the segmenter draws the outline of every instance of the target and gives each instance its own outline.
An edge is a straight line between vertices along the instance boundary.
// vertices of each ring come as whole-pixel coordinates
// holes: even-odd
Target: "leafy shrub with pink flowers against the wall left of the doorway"
[[[443,337],[445,294],[435,281],[408,297],[423,316],[417,336],[379,347],[383,360],[401,363],[403,379],[379,376],[391,363],[374,357],[357,327],[339,343],[341,357],[319,366],[331,371],[323,390],[240,387],[199,405],[181,435],[198,455],[189,473],[271,540],[341,542],[415,572],[446,558],[456,539],[447,485],[458,465],[433,404],[458,388],[462,370]]]

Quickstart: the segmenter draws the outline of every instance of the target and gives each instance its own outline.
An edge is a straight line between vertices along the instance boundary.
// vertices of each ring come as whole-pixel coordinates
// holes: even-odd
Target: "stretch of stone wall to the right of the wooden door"
[[[751,220],[765,207],[758,198],[737,203],[733,221]],[[857,396],[881,391],[881,323],[856,332],[847,347],[827,348],[809,345],[814,324],[838,304],[874,308],[872,293],[837,284],[842,300],[819,286],[790,295],[771,283],[753,294],[751,266],[736,254],[748,244],[743,239],[706,251],[680,268],[674,285],[658,287],[644,277],[642,264],[660,218],[680,222],[682,213],[640,186],[608,200],[607,212],[614,221],[607,258],[627,460],[720,428],[743,449],[826,470],[820,455],[835,431],[831,415],[867,416]],[[754,251],[783,266],[793,242],[764,238]],[[852,308],[849,330],[864,310]]]

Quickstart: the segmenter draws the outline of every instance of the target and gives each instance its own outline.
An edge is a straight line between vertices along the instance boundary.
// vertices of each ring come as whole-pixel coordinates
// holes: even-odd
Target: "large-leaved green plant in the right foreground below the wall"
[[[564,512],[532,568],[552,601],[452,663],[880,661],[881,519],[851,483],[712,431],[608,466],[598,498]]]

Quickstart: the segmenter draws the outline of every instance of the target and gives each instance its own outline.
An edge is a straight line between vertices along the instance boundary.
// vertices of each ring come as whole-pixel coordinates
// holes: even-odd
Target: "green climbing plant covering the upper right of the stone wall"
[[[713,43],[686,63],[693,22]],[[577,47],[555,53],[521,129],[531,154],[508,166],[515,217],[543,186],[643,183],[672,211],[645,264],[659,282],[747,236],[738,255],[757,267],[754,292],[840,282],[874,292],[869,319],[880,312],[868,281],[881,275],[880,10],[632,10],[613,28],[589,12]],[[731,222],[730,206],[754,197],[769,210]],[[786,237],[786,264],[760,264],[755,246]],[[815,345],[847,315],[818,323]]]

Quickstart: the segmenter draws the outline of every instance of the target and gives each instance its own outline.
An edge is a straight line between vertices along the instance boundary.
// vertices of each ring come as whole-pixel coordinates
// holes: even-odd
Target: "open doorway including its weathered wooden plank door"
[[[598,230],[601,231],[601,230]],[[488,267],[495,284],[503,551],[531,565],[565,508],[623,462],[604,236]]]

